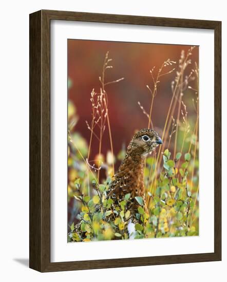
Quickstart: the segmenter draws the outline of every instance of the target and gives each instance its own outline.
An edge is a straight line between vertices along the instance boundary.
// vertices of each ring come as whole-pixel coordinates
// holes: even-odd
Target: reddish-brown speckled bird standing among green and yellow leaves
[[[127,193],[130,193],[132,199],[130,210],[134,213],[138,208],[135,197],[140,196],[144,199],[144,209],[147,211],[143,183],[144,160],[160,144],[163,144],[162,139],[152,129],[141,129],[133,136],[123,163],[107,191],[107,198],[112,198],[118,204]]]

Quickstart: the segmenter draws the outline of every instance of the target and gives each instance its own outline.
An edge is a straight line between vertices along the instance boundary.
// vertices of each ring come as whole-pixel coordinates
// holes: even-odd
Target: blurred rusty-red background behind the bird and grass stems
[[[90,93],[100,91],[99,76],[102,73],[104,57],[109,51],[109,58],[112,58],[110,65],[112,69],[106,70],[106,82],[124,77],[119,83],[106,86],[109,100],[109,118],[113,139],[113,151],[117,154],[122,144],[129,143],[134,132],[147,127],[148,118],[142,113],[138,101],[149,113],[152,99],[146,85],[153,87],[152,76],[149,70],[154,66],[155,75],[160,66],[168,58],[177,64],[168,66],[163,72],[178,66],[181,51],[185,53],[191,46],[185,45],[164,45],[150,43],[127,43],[127,42],[105,42],[68,39],[68,77],[71,82],[69,88],[69,99],[77,109],[79,117],[74,131],[89,142],[90,131],[87,129],[85,120],[91,121]],[[191,56],[192,67],[198,64],[199,47],[193,50]],[[189,74],[192,67],[186,69]],[[152,120],[154,129],[162,134],[169,103],[172,98],[171,83],[176,76],[176,70],[160,78],[158,93],[155,97]],[[193,86],[193,83],[191,83]],[[183,97],[187,103],[188,119],[195,118],[195,111],[192,103],[192,91],[186,91]],[[91,147],[91,159],[98,152],[99,141],[93,138]],[[102,153],[105,155],[110,149],[108,129],[106,128],[103,137]]]

